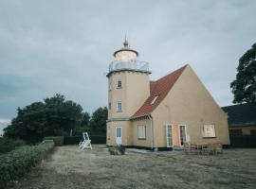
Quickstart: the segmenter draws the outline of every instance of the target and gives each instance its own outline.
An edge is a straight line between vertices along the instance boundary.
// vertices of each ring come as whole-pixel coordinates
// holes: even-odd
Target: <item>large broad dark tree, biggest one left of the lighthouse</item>
[[[81,126],[82,119],[81,105],[56,94],[44,102],[18,108],[17,116],[4,131],[5,136],[36,143],[45,136],[69,135],[70,129]]]

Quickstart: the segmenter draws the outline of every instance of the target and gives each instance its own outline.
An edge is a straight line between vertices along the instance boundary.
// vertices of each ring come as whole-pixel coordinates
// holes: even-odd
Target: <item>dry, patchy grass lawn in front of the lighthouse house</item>
[[[105,146],[60,146],[9,188],[256,188],[256,149],[227,149],[217,156],[182,151],[111,156]]]

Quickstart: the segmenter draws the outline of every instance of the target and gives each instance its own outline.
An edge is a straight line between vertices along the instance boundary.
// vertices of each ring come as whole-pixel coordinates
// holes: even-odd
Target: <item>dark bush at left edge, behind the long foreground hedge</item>
[[[7,153],[17,146],[25,146],[25,142],[18,139],[10,139],[8,137],[0,138],[0,154]]]

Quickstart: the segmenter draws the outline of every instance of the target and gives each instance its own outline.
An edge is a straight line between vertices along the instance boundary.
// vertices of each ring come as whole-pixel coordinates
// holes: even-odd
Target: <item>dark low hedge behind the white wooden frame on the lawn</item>
[[[105,135],[89,135],[91,144],[106,144]],[[64,145],[78,145],[82,141],[82,136],[65,136]]]

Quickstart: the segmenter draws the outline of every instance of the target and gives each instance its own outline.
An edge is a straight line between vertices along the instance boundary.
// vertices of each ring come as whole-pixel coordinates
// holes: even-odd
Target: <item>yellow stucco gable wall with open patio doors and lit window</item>
[[[186,125],[191,142],[221,142],[229,145],[227,115],[217,105],[190,66],[186,67],[152,115],[155,147],[167,146],[166,124],[169,123]],[[215,126],[216,138],[203,138],[204,124]]]

